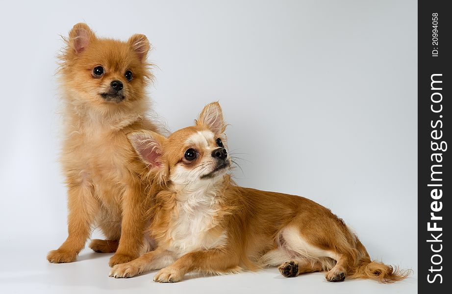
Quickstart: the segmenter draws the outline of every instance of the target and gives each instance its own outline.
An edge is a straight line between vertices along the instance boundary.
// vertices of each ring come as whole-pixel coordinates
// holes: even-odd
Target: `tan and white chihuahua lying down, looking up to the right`
[[[178,282],[199,271],[220,274],[279,266],[283,276],[326,271],[326,280],[372,278],[394,282],[409,271],[372,261],[353,231],[309,199],[235,185],[227,173],[226,124],[218,103],[195,126],[165,138],[152,131],[128,135],[149,166],[156,197],[149,234],[157,247],[113,267],[132,277],[161,269],[156,282]]]

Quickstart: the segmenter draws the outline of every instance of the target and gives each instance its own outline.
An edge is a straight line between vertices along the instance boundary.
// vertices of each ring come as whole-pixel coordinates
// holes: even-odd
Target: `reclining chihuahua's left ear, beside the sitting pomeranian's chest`
[[[162,166],[162,147],[166,138],[152,131],[142,130],[127,135],[141,160],[150,168]]]

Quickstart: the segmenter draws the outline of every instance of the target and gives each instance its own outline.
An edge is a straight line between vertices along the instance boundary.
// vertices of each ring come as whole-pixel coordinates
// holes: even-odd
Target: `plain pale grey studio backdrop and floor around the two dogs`
[[[415,293],[416,1],[2,1],[0,292]],[[59,35],[146,34],[150,94],[172,130],[223,106],[240,185],[309,197],[357,231],[371,257],[414,270],[396,285],[327,283],[314,273],[151,282],[107,277],[108,255],[45,256],[66,237],[56,87]],[[94,232],[93,236],[97,236]],[[227,285],[227,286],[226,286]],[[215,287],[215,288],[212,288]],[[2,291],[2,290],[7,290]]]

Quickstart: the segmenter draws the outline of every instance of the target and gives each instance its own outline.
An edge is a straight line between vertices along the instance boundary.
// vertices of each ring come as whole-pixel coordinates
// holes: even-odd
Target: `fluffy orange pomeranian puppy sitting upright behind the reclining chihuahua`
[[[116,252],[110,266],[137,258],[149,225],[146,185],[126,134],[157,131],[145,117],[145,88],[152,78],[147,62],[150,43],[135,34],[127,42],[98,38],[86,24],[76,24],[60,56],[65,138],[61,162],[68,188],[66,241],[47,255],[51,263],[76,259],[92,228],[107,240],[93,240],[97,252]]]

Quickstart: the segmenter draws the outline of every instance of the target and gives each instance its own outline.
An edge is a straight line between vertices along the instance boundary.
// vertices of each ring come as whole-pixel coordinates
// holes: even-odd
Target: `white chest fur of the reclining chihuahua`
[[[176,256],[196,250],[205,250],[226,244],[226,232],[212,230],[219,211],[215,192],[208,187],[187,194],[179,193],[178,214],[171,226],[168,250]]]

